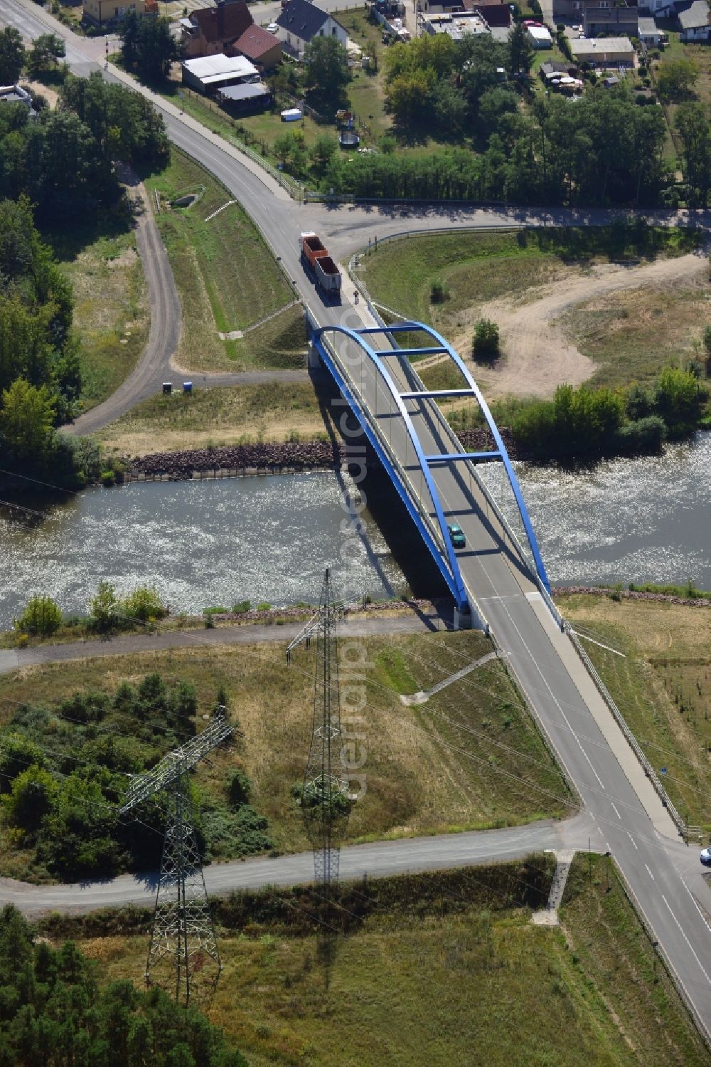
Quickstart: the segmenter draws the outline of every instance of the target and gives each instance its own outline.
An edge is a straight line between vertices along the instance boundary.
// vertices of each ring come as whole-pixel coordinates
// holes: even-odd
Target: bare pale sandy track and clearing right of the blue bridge
[[[504,359],[492,368],[476,366],[475,377],[488,396],[547,397],[563,383],[580,385],[597,365],[566,338],[558,321],[564,312],[620,289],[688,283],[708,267],[704,255],[693,253],[643,267],[604,264],[584,273],[571,270],[565,281],[558,276],[554,285],[540,287],[538,299],[522,306],[506,298],[480,305],[476,317],[499,325]],[[454,338],[459,352],[470,345],[471,330]]]

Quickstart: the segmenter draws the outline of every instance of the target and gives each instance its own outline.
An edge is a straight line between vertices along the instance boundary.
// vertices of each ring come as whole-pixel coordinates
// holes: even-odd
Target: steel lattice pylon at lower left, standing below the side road
[[[130,784],[119,814],[163,790],[167,825],[146,964],[146,985],[161,986],[184,1007],[209,993],[222,965],[195,837],[189,770],[233,731],[224,707],[196,737],[168,752]]]

